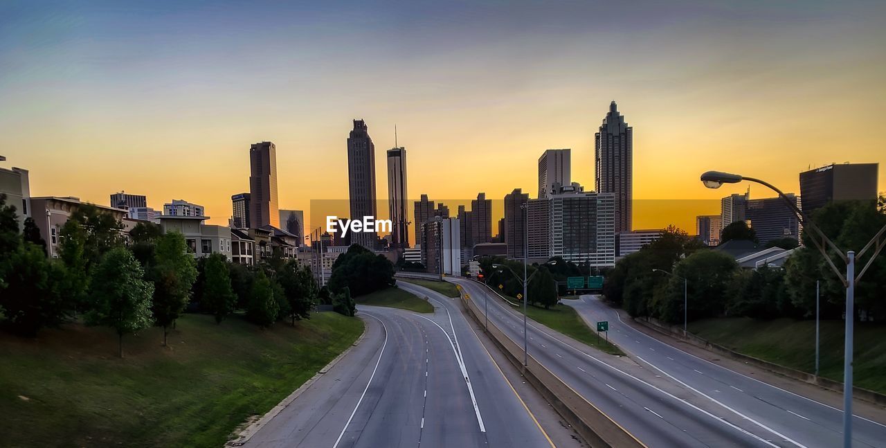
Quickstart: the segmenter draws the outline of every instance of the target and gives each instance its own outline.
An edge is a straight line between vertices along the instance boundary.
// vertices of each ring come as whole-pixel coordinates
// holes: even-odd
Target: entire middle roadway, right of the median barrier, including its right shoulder
[[[449,281],[461,285],[481,310],[486,299],[489,321],[522,345],[521,315],[482,284],[469,279]],[[650,447],[834,446],[797,444],[795,431],[790,435],[775,431],[750,415],[717,405],[641,361],[602,354],[532,321],[528,334],[534,358]]]

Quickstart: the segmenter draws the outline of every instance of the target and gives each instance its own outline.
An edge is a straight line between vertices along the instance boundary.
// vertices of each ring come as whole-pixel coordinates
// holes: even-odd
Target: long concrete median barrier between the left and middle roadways
[[[462,291],[462,308],[483,326],[485,320],[482,311],[473,300],[465,299]],[[496,346],[505,354],[505,358],[519,369],[524,369],[523,347],[511,340],[507,334],[489,323],[487,332]],[[528,366],[524,370],[524,378],[537,389],[554,407],[564,420],[578,431],[579,436],[592,447],[645,447],[634,436],[622,428],[615,420],[610,419],[594,404],[587,401],[575,389],[562,381],[555,373],[541,365],[532,355],[528,358]]]

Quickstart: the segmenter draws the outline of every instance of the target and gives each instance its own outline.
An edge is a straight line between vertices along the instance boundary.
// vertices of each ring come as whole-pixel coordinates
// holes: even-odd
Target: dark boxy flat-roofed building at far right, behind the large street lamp
[[[800,173],[803,211],[812,214],[834,200],[876,200],[879,163],[843,163]]]

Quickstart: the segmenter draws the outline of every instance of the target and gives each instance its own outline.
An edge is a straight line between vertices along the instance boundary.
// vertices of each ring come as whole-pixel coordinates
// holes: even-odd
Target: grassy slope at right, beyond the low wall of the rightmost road
[[[820,376],[843,381],[843,321],[821,321]],[[709,318],[689,322],[689,331],[754,358],[815,372],[815,321],[780,318]],[[886,393],[886,326],[855,324],[853,381]]]

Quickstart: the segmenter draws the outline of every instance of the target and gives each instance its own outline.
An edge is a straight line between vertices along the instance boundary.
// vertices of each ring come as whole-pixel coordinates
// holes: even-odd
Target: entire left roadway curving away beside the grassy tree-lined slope
[[[455,300],[400,287],[434,313],[358,305],[361,342],[245,446],[553,446]]]

